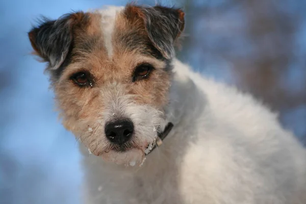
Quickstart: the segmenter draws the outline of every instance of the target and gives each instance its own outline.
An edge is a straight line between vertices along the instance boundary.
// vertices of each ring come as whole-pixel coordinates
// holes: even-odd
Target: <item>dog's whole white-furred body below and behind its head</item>
[[[173,71],[163,145],[141,168],[82,147],[84,203],[306,203],[306,151],[275,114],[177,60]]]

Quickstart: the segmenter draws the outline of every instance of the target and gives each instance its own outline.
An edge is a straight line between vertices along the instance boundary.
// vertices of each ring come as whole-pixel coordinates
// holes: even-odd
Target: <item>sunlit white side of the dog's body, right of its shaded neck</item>
[[[265,192],[278,189],[285,195],[288,186],[301,188],[305,184],[304,179],[298,178],[306,175],[306,152],[294,135],[282,127],[276,113],[250,94],[195,73],[179,61],[175,62],[175,71],[180,73],[180,80],[190,78],[201,90],[205,99],[200,106],[206,107],[191,125],[197,130],[198,139],[190,143],[183,159],[182,185],[188,189],[184,191],[187,197],[198,188],[202,188],[198,192],[210,188],[221,190],[207,194],[208,199],[215,194],[235,200],[233,195],[251,192],[254,202],[248,203],[260,203],[270,196]],[[218,186],[221,183],[222,188]],[[261,184],[265,186],[258,189]],[[222,192],[233,186],[241,193]],[[257,197],[257,193],[262,197]],[[192,195],[203,197],[202,193]],[[276,195],[273,199],[284,203]]]

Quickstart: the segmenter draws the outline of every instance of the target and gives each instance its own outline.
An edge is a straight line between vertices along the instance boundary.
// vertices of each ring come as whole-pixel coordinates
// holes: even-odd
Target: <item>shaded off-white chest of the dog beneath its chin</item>
[[[153,159],[153,158],[151,158]],[[180,204],[179,171],[172,162],[145,163],[132,174],[95,166],[87,171],[87,189],[92,203],[177,203]],[[147,158],[149,160],[149,158]],[[87,169],[89,170],[89,169]],[[111,201],[111,202],[110,202]],[[89,202],[91,204],[91,202]]]

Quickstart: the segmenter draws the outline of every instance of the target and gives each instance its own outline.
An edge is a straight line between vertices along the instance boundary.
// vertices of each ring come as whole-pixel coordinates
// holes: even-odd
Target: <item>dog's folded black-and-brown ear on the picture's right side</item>
[[[185,26],[181,9],[128,5],[125,13],[128,19],[142,20],[150,41],[166,59],[174,56],[174,43]]]

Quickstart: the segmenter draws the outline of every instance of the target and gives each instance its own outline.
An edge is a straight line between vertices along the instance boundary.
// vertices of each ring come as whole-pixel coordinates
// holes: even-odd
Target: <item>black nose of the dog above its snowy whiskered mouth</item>
[[[131,139],[134,132],[133,122],[130,120],[120,120],[107,123],[105,126],[106,137],[114,143],[123,144]]]

